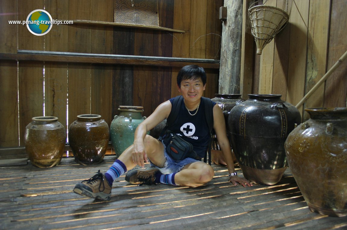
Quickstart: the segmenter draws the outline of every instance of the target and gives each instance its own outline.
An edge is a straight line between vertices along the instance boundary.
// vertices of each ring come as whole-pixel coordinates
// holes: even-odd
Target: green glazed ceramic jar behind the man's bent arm
[[[120,105],[118,111],[119,115],[114,117],[110,125],[112,146],[117,157],[134,143],[135,130],[146,119],[142,117],[143,107],[141,106]],[[147,134],[150,134],[150,131]]]

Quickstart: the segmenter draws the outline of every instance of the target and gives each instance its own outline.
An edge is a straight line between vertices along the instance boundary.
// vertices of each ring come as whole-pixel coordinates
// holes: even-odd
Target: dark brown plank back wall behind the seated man
[[[44,36],[8,20],[45,9],[56,20],[114,21],[115,0],[15,0],[0,2],[0,53],[17,50],[220,59],[223,0],[158,0],[161,27],[185,33],[104,25],[53,25]],[[0,60],[0,148],[24,146],[34,116],[57,116],[68,129],[79,114],[100,114],[110,125],[119,105],[156,106],[176,96],[179,67]],[[206,69],[204,96],[218,93],[218,69]],[[23,151],[22,151],[23,152]],[[1,159],[0,154],[0,159]],[[12,158],[12,157],[10,157]],[[16,158],[16,156],[13,156]]]

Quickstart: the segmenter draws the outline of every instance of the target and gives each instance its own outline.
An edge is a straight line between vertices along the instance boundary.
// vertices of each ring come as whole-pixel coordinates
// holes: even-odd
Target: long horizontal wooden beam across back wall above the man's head
[[[192,59],[179,57],[134,56],[113,54],[87,54],[71,52],[52,52],[18,50],[18,53],[0,53],[0,60],[26,60],[47,62],[78,62],[97,64],[151,65],[166,67],[183,67],[185,65],[199,65],[207,69],[219,69],[219,60]]]

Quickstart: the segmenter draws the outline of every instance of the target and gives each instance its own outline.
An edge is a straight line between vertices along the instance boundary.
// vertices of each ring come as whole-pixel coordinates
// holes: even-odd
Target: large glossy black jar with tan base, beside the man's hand
[[[230,111],[230,142],[244,177],[273,185],[288,167],[284,142],[295,124],[301,123],[301,115],[281,95],[248,96]]]

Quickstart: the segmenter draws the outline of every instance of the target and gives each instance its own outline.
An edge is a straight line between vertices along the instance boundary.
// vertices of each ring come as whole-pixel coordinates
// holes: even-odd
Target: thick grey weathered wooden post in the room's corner
[[[222,22],[219,93],[240,93],[243,1],[225,0],[227,20]]]

